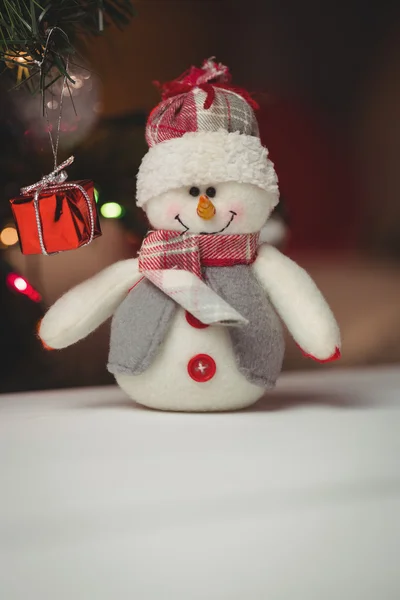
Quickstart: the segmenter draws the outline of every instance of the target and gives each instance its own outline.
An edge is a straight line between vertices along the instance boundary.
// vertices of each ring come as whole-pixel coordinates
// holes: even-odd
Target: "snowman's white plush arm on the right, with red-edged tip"
[[[306,271],[268,245],[260,247],[253,269],[303,353],[320,362],[339,358],[339,327]]]

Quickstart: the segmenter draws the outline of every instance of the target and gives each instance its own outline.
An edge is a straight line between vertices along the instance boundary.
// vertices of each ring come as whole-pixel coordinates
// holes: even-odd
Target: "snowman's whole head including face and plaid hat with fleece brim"
[[[255,233],[278,203],[254,102],[213,60],[163,87],[146,126],[137,204],[155,229]]]

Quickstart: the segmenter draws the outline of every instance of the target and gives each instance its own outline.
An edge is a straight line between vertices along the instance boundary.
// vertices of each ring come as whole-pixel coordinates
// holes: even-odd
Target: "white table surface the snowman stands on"
[[[253,410],[0,396],[1,600],[399,600],[400,369]]]

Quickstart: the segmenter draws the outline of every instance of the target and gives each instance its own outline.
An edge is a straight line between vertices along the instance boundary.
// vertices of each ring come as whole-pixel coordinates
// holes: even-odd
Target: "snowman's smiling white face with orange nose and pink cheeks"
[[[226,182],[170,190],[145,210],[155,229],[181,233],[256,233],[276,205],[275,195],[248,183]]]

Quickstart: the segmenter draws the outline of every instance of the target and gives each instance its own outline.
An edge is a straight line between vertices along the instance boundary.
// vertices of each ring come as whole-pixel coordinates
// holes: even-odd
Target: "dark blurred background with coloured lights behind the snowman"
[[[0,391],[112,382],[109,323],[61,352],[35,326],[47,306],[105,266],[135,255],[135,209],[154,80],[216,56],[256,93],[264,144],[280,180],[282,249],[307,268],[343,333],[343,358],[322,367],[289,341],[285,369],[400,361],[400,4],[136,0],[136,16],[80,48],[71,67],[61,158],[95,180],[103,236],[60,255],[23,256],[9,198],[51,170],[40,100],[0,79]],[[66,105],[68,102],[66,101]],[[54,110],[53,110],[54,108]],[[56,106],[49,114],[56,114]],[[55,118],[55,117],[52,117]],[[19,278],[19,279],[18,279]]]

